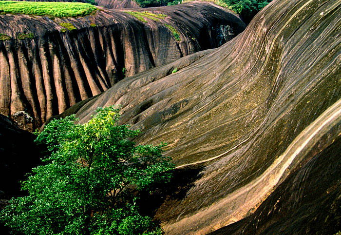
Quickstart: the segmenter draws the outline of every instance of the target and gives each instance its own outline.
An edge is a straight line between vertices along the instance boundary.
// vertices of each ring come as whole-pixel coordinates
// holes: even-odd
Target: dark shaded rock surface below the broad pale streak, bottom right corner
[[[209,235],[336,234],[341,228],[341,139],[287,177],[253,215]]]

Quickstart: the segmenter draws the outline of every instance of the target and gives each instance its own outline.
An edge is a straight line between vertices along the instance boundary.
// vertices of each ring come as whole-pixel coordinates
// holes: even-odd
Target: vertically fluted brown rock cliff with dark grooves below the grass
[[[146,22],[104,8],[82,18],[0,15],[0,33],[12,37],[0,41],[0,114],[35,130],[125,76],[217,47],[245,28],[238,16],[210,3],[143,11],[163,15],[142,17]],[[17,39],[23,33],[33,39]]]

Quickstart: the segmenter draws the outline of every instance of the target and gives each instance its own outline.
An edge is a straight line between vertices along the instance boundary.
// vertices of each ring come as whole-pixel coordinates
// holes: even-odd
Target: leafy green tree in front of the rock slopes
[[[100,108],[86,124],[75,116],[52,120],[36,141],[44,165],[23,182],[0,218],[29,235],[159,235],[162,229],[136,205],[138,190],[170,180],[174,166],[162,147],[138,145],[138,131],[118,125],[118,110]]]

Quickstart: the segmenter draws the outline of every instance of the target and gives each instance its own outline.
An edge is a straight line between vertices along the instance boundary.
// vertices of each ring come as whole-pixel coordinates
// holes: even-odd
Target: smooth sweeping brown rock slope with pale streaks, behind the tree
[[[274,0],[222,47],[123,79],[74,112],[85,122],[120,104],[138,143],[168,142],[179,170],[196,172],[155,218],[167,234],[206,234],[252,214],[340,135],[340,16],[341,0]]]

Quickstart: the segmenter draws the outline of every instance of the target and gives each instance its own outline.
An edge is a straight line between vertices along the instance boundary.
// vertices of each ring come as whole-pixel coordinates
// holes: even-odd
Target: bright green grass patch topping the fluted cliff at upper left
[[[80,2],[1,1],[0,12],[36,16],[78,17],[95,13],[96,7]]]

